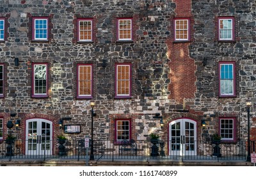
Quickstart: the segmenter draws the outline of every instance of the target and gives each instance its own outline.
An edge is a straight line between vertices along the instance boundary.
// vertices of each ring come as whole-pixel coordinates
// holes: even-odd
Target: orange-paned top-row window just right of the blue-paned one
[[[92,20],[79,19],[77,25],[79,33],[77,40],[80,42],[92,42]]]

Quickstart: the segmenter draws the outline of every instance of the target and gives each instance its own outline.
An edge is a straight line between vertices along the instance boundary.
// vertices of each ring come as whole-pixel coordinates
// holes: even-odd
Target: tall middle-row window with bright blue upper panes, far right
[[[235,93],[235,63],[220,62],[220,97],[234,97]]]

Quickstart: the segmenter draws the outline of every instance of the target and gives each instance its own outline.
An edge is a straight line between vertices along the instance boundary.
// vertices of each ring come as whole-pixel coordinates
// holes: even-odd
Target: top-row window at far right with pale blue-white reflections
[[[220,17],[218,19],[218,40],[234,40],[234,18]]]

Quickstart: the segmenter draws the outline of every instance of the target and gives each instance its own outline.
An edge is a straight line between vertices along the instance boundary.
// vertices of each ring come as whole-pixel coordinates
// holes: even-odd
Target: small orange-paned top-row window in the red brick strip
[[[189,40],[189,19],[176,19],[175,22],[175,40]]]

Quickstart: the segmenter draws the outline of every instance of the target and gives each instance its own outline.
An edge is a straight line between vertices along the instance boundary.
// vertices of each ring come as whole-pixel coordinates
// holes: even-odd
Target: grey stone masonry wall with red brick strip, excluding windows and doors
[[[114,139],[115,119],[129,118],[133,139],[149,139],[156,131],[168,140],[168,124],[189,118],[196,121],[197,139],[209,140],[225,116],[236,118],[237,139],[246,139],[246,100],[256,102],[255,8],[254,0],[0,0],[0,18],[7,21],[6,39],[0,42],[6,72],[0,99],[4,136],[14,112],[21,125],[12,130],[20,139],[26,138],[31,118],[52,121],[55,139],[62,132],[58,121],[66,116],[72,120],[64,124],[81,125],[81,133],[67,137],[81,139],[90,135],[93,101],[96,139]],[[45,15],[51,21],[49,42],[33,42],[31,17]],[[235,42],[218,42],[218,16],[235,17]],[[76,42],[79,17],[93,19],[92,43]],[[118,17],[132,17],[133,42],[116,42]],[[190,19],[189,42],[173,40],[173,19],[180,17]],[[234,98],[218,95],[218,61],[236,62]],[[31,97],[33,62],[49,64],[47,98]],[[78,63],[93,64],[92,99],[76,98]],[[115,63],[132,63],[131,98],[115,98]],[[153,120],[156,113],[163,116],[163,129]],[[255,120],[251,124],[255,131]]]

